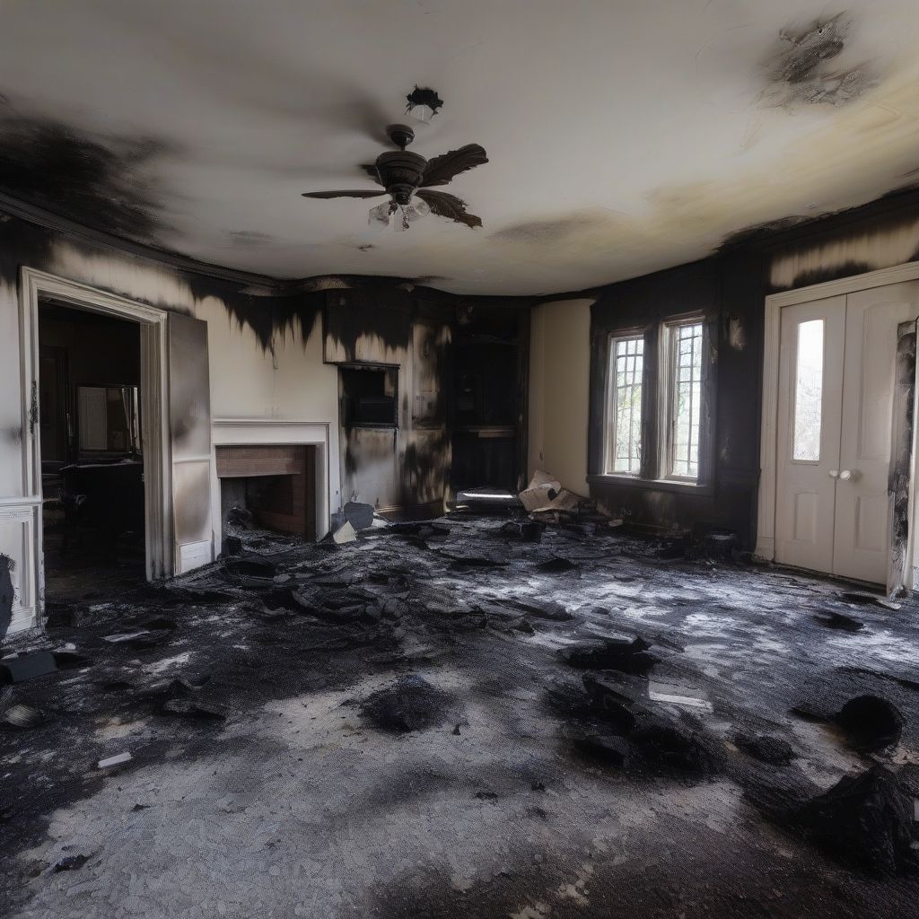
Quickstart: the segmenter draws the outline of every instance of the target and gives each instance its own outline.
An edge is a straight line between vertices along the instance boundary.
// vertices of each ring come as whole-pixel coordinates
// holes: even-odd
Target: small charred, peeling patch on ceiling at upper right
[[[783,28],[766,60],[770,85],[764,104],[838,106],[862,96],[874,83],[868,64],[843,67],[837,61],[848,47],[851,32],[852,19],[845,13]]]

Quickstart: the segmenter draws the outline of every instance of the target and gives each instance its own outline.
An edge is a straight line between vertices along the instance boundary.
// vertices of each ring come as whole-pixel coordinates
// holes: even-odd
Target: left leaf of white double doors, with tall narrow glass
[[[834,570],[844,346],[845,296],[782,310],[776,561],[826,573]]]

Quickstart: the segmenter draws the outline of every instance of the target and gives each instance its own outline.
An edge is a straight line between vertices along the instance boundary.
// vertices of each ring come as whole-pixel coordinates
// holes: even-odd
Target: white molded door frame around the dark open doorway
[[[148,579],[172,573],[172,473],[170,465],[169,378],[166,369],[168,312],[57,275],[23,266],[19,270],[19,353],[22,400],[22,478],[27,501],[42,510],[39,415],[39,301],[52,298],[76,309],[100,312],[140,325],[144,549]],[[41,519],[33,528],[36,616],[44,608]]]

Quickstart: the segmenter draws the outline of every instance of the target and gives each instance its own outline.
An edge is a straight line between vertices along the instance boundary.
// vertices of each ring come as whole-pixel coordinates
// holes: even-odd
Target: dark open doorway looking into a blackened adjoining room
[[[141,328],[51,300],[38,320],[45,596],[117,593],[146,575]]]

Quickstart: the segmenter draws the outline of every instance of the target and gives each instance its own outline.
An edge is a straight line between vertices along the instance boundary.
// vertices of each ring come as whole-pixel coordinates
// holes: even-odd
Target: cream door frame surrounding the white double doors
[[[885,287],[902,281],[919,279],[919,261],[904,262],[878,271],[811,284],[809,287],[784,290],[766,297],[766,320],[763,350],[762,417],[760,421],[760,475],[759,501],[756,514],[756,549],[754,556],[765,562],[776,558],[776,509],[777,509],[777,465],[778,465],[778,390],[779,349],[781,344],[782,309],[815,300],[824,300],[841,294],[857,293],[859,290]],[[919,383],[919,369],[917,369]],[[913,425],[913,459],[910,469],[910,533],[907,546],[906,571],[913,570],[913,482],[916,481],[915,425]],[[890,572],[890,569],[889,569]],[[912,580],[912,579],[910,579]]]

